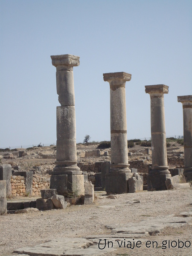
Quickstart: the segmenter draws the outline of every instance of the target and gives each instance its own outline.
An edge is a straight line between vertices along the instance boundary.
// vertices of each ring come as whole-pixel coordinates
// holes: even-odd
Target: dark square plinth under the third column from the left
[[[166,190],[166,179],[171,177],[169,174],[150,173],[147,176],[147,190]]]

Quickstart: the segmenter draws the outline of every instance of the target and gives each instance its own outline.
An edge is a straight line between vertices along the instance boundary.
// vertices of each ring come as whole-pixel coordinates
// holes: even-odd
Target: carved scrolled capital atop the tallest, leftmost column
[[[73,70],[73,67],[79,66],[79,56],[64,54],[64,55],[52,55],[52,65],[60,70]]]

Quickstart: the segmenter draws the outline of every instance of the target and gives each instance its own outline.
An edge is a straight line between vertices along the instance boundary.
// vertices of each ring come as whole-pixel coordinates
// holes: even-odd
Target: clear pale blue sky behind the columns
[[[126,83],[128,139],[151,137],[145,85],[166,84],[166,135],[183,135],[192,94],[191,0],[0,0],[0,148],[56,142],[56,68],[50,55],[80,56],[74,67],[76,140],[110,140],[110,88]]]

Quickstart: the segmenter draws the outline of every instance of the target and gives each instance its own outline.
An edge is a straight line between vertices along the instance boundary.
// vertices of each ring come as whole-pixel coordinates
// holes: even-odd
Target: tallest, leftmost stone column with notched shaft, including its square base
[[[79,66],[79,57],[74,55],[51,56],[56,67],[57,107],[57,152],[56,166],[50,172],[50,189],[58,195],[84,195],[84,175],[77,166],[76,113],[73,82],[73,67]]]

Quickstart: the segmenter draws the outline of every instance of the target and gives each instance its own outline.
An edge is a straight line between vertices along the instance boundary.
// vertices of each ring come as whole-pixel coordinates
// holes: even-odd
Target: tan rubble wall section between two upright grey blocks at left
[[[11,176],[12,196],[25,196],[25,177]]]

